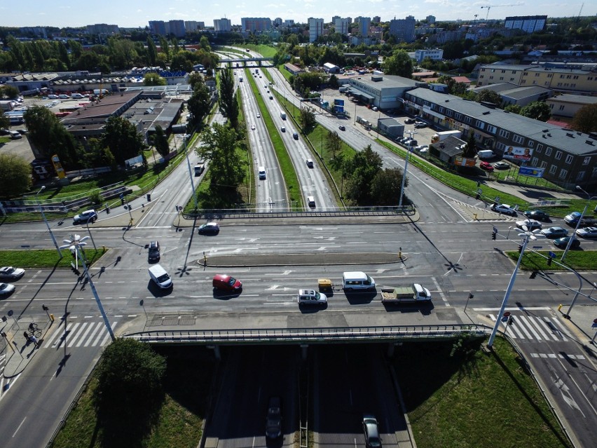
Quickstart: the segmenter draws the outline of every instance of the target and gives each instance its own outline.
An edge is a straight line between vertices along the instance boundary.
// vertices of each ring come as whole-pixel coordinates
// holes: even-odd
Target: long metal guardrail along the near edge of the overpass
[[[383,327],[270,328],[238,330],[155,330],[123,337],[149,344],[248,344],[311,343],[329,341],[399,341],[405,339],[450,339],[460,336],[485,337],[486,325],[400,325]]]

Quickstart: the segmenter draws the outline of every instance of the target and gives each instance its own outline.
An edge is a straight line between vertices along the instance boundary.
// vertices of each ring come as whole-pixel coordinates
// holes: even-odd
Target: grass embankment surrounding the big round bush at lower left
[[[167,356],[163,386],[165,400],[158,423],[153,426],[146,440],[139,441],[135,446],[195,448],[201,440],[203,421],[207,414],[215,369],[213,354],[208,353],[205,348],[196,347],[156,348],[156,351]],[[97,380],[92,375],[50,447],[104,448],[103,428],[96,418],[92,404],[92,393],[96,387]],[[132,412],[142,412],[142,409],[132,409]]]

